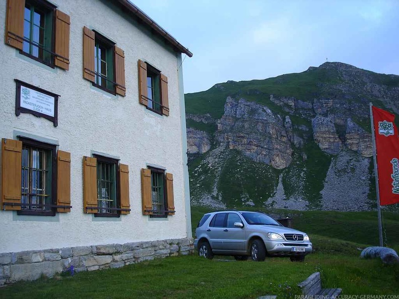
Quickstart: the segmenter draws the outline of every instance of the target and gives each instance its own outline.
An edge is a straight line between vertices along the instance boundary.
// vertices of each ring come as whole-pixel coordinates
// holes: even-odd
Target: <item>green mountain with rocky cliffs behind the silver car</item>
[[[341,62],[186,94],[191,202],[369,210],[369,103],[399,113],[399,76]]]

